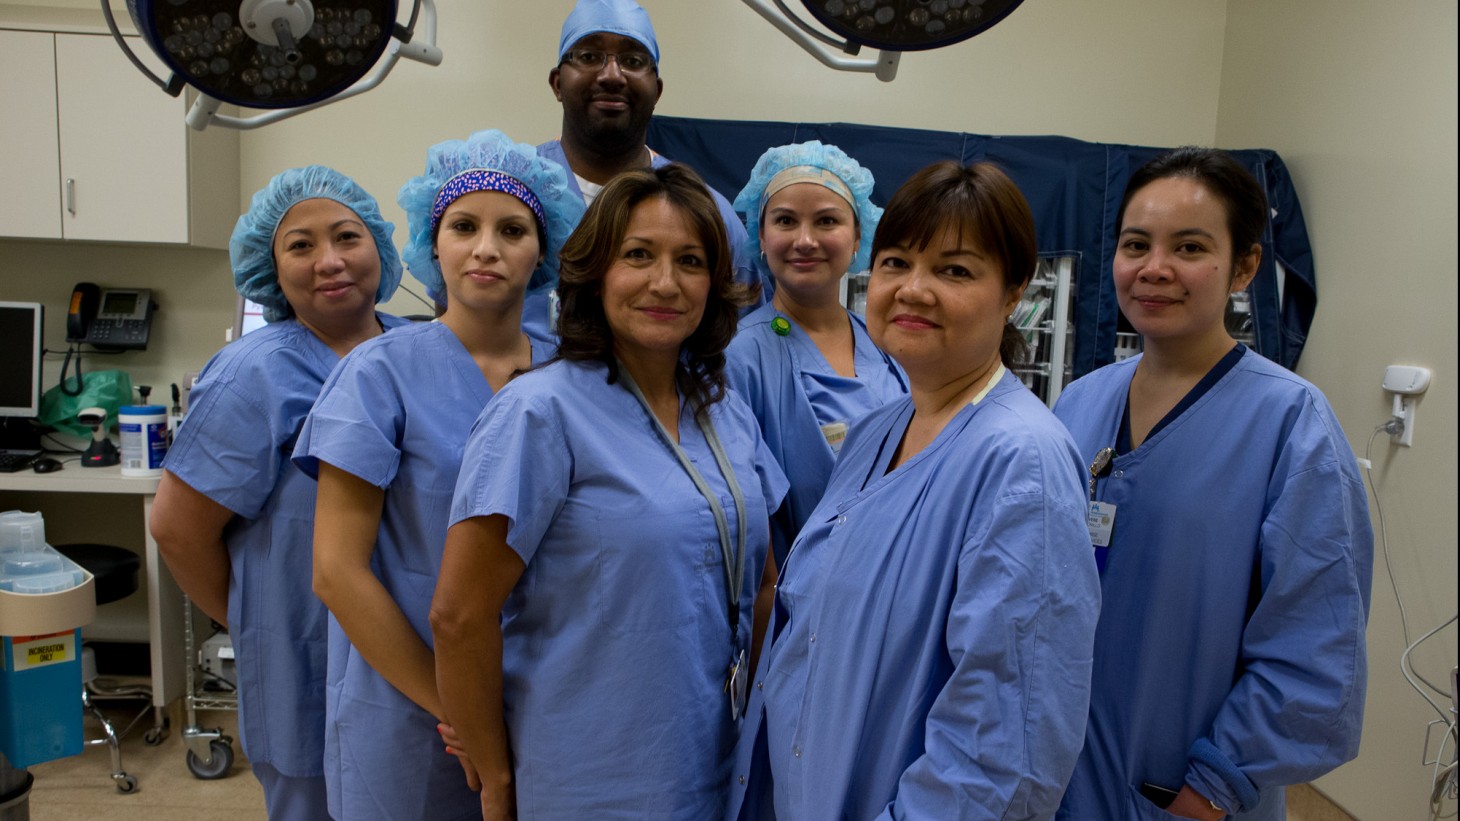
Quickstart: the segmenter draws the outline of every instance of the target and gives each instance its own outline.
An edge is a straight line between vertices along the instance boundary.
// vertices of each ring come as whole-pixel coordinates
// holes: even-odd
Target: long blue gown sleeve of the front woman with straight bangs
[[[1089,711],[1099,580],[1083,507],[997,500],[961,548],[955,586],[953,671],[880,818],[1050,818]]]

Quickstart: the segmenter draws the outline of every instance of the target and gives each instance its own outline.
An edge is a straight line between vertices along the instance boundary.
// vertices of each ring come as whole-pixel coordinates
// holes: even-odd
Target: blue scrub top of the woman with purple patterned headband
[[[550,355],[533,340],[533,362]],[[371,564],[426,646],[451,492],[472,422],[492,397],[450,327],[418,324],[340,362],[299,432],[295,465],[326,462],[385,489]],[[330,618],[326,780],[336,818],[480,818],[437,720],[377,673]]]

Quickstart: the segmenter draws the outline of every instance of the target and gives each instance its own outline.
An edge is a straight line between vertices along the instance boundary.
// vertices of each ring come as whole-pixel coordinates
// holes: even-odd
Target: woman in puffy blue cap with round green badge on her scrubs
[[[837,462],[847,425],[907,394],[907,380],[841,304],[848,270],[867,270],[882,209],[872,172],[819,142],[766,150],[736,197],[749,225],[748,256],[762,257],[775,295],[740,320],[726,378],[761,422],[791,482],[771,520],[785,558]]]

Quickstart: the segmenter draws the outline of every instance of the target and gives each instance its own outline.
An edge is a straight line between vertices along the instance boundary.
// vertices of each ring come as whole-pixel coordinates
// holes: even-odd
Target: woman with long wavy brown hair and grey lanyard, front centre
[[[467,443],[431,609],[441,698],[485,818],[715,818],[785,492],[721,373],[750,295],[677,164],[604,186],[558,292],[558,358]]]

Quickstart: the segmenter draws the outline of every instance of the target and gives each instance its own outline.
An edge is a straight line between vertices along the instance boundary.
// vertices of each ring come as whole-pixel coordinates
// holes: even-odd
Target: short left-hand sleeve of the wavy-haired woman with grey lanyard
[[[472,427],[451,500],[451,524],[505,516],[507,545],[531,564],[568,500],[572,451],[550,400],[512,387],[508,383],[493,396]]]

